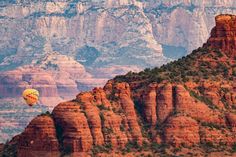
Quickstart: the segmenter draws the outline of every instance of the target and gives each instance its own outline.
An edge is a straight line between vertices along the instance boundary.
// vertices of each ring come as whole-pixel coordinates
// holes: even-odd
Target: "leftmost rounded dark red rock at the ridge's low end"
[[[49,116],[38,116],[20,135],[17,156],[49,155],[59,156],[59,143],[54,121]]]

